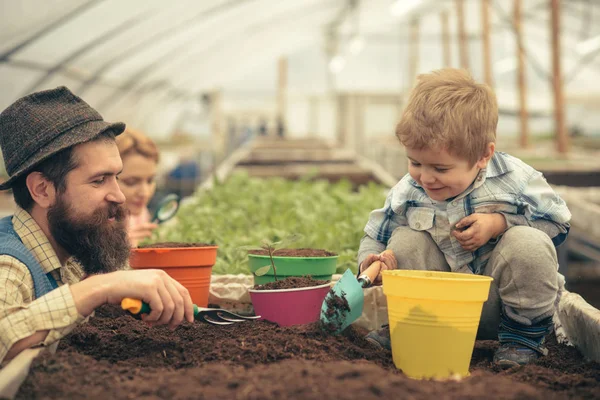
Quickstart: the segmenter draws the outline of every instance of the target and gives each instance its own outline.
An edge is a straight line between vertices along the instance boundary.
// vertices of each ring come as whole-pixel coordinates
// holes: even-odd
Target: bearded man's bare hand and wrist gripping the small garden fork
[[[117,271],[71,285],[77,310],[89,315],[102,304],[120,304],[125,297],[141,299],[152,312],[142,317],[151,325],[169,325],[175,329],[184,318],[194,321],[194,307],[186,288],[158,269]]]

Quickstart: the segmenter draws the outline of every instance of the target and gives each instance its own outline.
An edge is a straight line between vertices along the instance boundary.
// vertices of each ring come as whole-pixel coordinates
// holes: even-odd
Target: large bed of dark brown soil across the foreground
[[[492,365],[496,342],[477,342],[471,376],[438,382],[407,378],[364,334],[262,321],[170,331],[104,307],[34,361],[17,398],[598,398],[600,365],[555,340],[548,357],[507,371]]]

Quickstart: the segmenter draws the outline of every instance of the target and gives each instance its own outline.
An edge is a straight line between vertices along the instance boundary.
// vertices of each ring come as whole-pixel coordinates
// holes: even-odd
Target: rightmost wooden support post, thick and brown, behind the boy
[[[569,137],[565,128],[565,104],[563,80],[560,65],[560,0],[552,0],[552,88],[554,89],[554,121],[556,124],[556,142],[558,152],[569,151]]]

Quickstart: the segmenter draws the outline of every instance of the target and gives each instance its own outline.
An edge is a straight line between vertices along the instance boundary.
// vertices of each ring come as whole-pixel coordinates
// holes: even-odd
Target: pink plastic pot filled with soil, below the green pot
[[[279,326],[310,324],[319,320],[329,283],[298,289],[249,289],[254,313]]]

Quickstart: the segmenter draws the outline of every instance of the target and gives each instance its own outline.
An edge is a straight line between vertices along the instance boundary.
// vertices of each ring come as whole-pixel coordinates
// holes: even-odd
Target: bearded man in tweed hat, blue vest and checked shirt
[[[188,291],[160,270],[125,270],[123,164],[108,123],[65,87],[0,114],[0,146],[17,210],[0,220],[0,362],[48,346],[102,304],[140,298],[150,324],[193,321]]]

